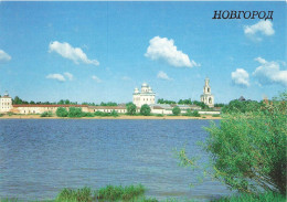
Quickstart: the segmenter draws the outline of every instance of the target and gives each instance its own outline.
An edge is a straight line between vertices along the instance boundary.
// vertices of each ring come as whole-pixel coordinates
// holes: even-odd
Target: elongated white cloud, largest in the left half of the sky
[[[79,47],[73,47],[68,43],[54,41],[49,44],[49,52],[56,52],[65,59],[72,60],[74,63],[78,64],[79,62],[85,64],[99,65],[97,60],[89,60],[87,55]]]

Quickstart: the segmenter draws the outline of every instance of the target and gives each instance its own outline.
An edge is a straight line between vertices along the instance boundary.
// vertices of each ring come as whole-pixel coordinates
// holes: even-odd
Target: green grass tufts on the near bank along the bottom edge
[[[92,190],[91,188],[83,188],[77,190],[64,189],[56,199],[45,200],[39,202],[159,202],[156,198],[147,198],[145,195],[146,188],[141,184],[128,187],[107,185],[99,190]],[[167,199],[164,202],[195,202],[196,200],[185,199]],[[285,202],[286,196],[265,192],[259,195],[254,194],[238,194],[234,196],[220,198],[211,200],[211,202]],[[2,199],[0,202],[21,202],[17,199]],[[36,202],[36,201],[33,201]]]

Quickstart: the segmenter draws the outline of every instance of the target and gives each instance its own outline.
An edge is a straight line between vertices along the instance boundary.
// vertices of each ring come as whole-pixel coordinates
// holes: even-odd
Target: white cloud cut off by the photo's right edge
[[[268,62],[262,57],[257,57],[255,61],[261,63],[261,66],[253,72],[259,84],[280,84],[287,87],[287,70],[280,71],[279,63],[275,61]]]

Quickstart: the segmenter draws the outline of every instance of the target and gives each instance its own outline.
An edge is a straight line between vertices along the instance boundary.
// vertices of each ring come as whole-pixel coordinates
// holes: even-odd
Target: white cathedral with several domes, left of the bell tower
[[[142,105],[152,105],[156,103],[156,93],[152,92],[151,87],[144,83],[141,85],[141,91],[136,87],[132,94],[132,103],[137,107],[141,107]]]

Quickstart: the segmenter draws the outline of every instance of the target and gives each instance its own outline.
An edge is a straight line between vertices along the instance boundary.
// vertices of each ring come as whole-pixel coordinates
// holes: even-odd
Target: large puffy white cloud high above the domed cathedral
[[[178,51],[174,45],[173,40],[168,40],[167,38],[155,36],[149,41],[149,46],[145,56],[151,59],[152,61],[163,60],[168,64],[176,67],[193,67],[200,66],[200,64],[194,61],[190,61],[189,55]]]

